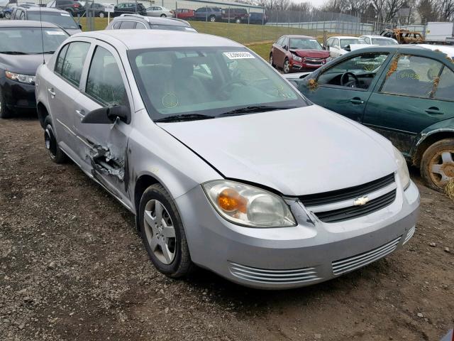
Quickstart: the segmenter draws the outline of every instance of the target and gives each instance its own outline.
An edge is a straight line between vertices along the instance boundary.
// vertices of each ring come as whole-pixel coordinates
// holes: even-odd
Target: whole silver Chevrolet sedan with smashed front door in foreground
[[[196,264],[244,286],[306,286],[415,232],[402,154],[232,40],[81,33],[40,66],[36,97],[50,158],[69,156],[133,212],[172,278]]]

